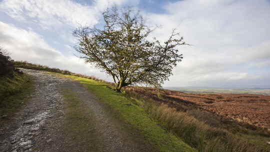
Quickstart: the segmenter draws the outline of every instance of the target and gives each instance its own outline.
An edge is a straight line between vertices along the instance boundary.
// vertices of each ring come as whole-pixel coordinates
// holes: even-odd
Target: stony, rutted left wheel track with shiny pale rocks
[[[42,126],[46,120],[55,115],[63,115],[63,98],[57,85],[65,80],[42,71],[21,70],[36,78],[35,91],[31,93],[31,100],[25,107],[10,118],[10,123],[1,128],[0,151],[32,151],[36,137],[42,134]]]

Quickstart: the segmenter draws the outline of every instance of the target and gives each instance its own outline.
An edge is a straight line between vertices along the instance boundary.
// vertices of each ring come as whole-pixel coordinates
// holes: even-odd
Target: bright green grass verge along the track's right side
[[[111,90],[107,84],[76,76],[68,77],[83,83],[100,101],[117,111],[121,119],[138,129],[145,139],[160,151],[196,151],[183,140],[160,127],[143,108],[133,104],[130,98]]]

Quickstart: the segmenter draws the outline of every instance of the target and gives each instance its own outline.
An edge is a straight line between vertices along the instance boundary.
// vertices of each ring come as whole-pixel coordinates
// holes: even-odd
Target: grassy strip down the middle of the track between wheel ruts
[[[63,89],[62,94],[65,112],[63,130],[66,137],[72,141],[69,150],[76,151],[79,147],[89,151],[101,151],[103,145],[96,131],[94,113],[89,111],[85,103],[71,90]]]

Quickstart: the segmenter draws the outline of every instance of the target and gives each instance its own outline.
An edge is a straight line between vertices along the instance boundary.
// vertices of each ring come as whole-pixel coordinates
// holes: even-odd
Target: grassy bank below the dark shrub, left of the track
[[[0,77],[0,116],[17,111],[34,91],[33,77],[14,73],[12,77]]]

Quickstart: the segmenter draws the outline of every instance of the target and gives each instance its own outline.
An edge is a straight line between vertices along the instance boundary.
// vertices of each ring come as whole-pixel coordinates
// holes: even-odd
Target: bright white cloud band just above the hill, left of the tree
[[[0,21],[0,45],[5,48],[12,59],[26,60],[32,63],[48,65],[73,72],[94,75],[109,79],[104,73],[85,64],[74,55],[63,55],[49,46],[43,37],[31,30],[17,28]]]

